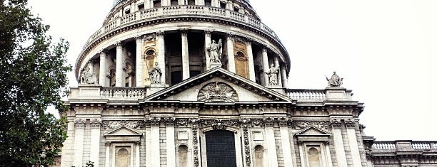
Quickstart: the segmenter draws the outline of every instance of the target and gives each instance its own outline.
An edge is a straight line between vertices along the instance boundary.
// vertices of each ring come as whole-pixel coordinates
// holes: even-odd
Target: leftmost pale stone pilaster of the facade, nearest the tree
[[[76,119],[74,121],[75,133],[74,133],[74,156],[72,166],[83,166],[82,157],[84,154],[84,129],[85,120]]]

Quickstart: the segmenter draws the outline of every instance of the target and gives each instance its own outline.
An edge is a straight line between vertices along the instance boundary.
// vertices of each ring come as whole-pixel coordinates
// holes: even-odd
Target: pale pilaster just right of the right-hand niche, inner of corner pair
[[[334,124],[332,127],[334,146],[336,148],[338,166],[348,166],[346,153],[344,152],[343,137],[341,136],[340,124]]]

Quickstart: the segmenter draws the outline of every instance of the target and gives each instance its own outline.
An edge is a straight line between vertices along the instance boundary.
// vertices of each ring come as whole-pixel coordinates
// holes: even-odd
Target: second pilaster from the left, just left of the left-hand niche
[[[94,167],[99,167],[100,124],[101,121],[99,119],[91,120],[91,149],[89,161],[94,162]]]

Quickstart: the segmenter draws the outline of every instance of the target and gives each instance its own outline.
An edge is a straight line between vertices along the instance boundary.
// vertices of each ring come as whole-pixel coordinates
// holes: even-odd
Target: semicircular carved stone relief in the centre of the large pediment
[[[223,82],[211,82],[199,91],[197,100],[204,102],[237,102],[238,95],[233,88]]]

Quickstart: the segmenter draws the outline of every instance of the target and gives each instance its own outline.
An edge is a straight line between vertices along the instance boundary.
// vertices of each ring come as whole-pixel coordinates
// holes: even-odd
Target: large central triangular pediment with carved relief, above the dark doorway
[[[223,68],[213,68],[196,77],[149,95],[146,101],[291,102],[279,92],[258,85]]]

